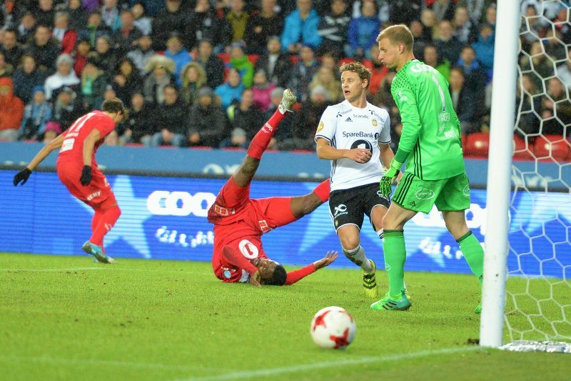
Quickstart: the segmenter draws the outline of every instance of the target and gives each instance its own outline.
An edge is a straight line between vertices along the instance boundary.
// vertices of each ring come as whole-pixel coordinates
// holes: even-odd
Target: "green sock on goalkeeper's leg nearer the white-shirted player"
[[[385,230],[383,241],[385,269],[388,273],[388,293],[393,300],[400,300],[405,288],[405,235],[403,230]]]

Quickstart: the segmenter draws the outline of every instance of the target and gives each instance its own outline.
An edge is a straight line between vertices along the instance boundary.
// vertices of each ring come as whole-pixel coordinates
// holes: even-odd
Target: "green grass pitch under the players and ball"
[[[205,262],[0,253],[0,380],[568,380],[571,355],[471,344],[468,275],[406,274],[413,307],[368,307],[358,269],[289,287],[223,284]],[[380,290],[386,274],[378,272]],[[357,335],[321,350],[313,314],[344,307]]]

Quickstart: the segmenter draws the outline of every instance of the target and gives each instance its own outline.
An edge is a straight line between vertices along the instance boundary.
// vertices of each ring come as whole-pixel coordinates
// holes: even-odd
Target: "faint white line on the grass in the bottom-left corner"
[[[116,366],[116,367],[134,367],[134,368],[150,368],[150,369],[163,369],[163,370],[209,370],[216,371],[218,368],[201,367],[198,365],[169,365],[153,362],[126,362],[126,361],[113,361],[113,360],[94,360],[94,359],[64,359],[58,357],[26,357],[26,356],[12,356],[0,355],[0,361],[9,362],[48,362],[50,364],[59,365],[94,365],[101,366]]]

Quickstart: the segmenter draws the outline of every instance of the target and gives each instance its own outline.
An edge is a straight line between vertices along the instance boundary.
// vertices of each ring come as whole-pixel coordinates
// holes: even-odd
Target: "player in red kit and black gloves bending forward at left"
[[[95,152],[115,125],[121,122],[126,109],[121,99],[113,98],[103,102],[101,110],[85,114],[66,132],[46,144],[30,164],[14,176],[14,186],[26,184],[38,164],[52,151],[60,149],[56,164],[60,181],[71,194],[95,211],[91,220],[91,238],[81,248],[98,262],[113,263],[113,258],[103,249],[103,237],[119,218],[121,209],[106,177],[97,167]]]

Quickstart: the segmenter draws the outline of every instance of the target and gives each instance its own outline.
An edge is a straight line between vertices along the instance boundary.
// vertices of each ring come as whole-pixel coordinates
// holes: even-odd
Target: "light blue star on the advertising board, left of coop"
[[[138,253],[145,258],[151,258],[151,252],[148,249],[147,239],[143,222],[145,222],[151,214],[147,209],[146,197],[135,197],[133,194],[133,185],[128,176],[116,176],[115,182],[111,184],[111,189],[115,193],[117,204],[121,208],[121,217],[117,220],[113,229],[105,236],[105,246],[109,247],[117,239],[123,239],[130,244]],[[83,207],[94,214],[93,209],[89,205],[76,199]]]

